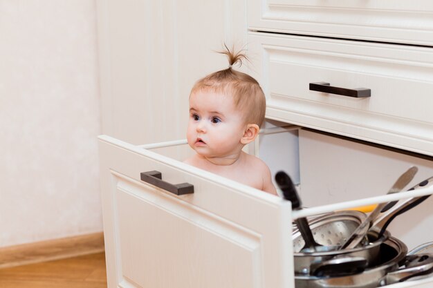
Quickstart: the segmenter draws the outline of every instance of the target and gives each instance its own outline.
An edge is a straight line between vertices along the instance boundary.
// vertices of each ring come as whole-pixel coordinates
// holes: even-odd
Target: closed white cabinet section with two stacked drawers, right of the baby
[[[251,74],[266,116],[433,155],[432,21],[430,1],[250,1]],[[311,88],[320,83],[371,96]]]

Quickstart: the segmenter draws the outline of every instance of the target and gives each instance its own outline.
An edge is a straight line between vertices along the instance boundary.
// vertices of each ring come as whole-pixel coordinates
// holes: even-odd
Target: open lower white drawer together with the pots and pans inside
[[[433,193],[430,179],[412,191],[294,207],[294,198],[287,201],[184,164],[183,140],[135,146],[103,135],[99,142],[109,288],[433,285],[433,278],[416,274],[413,281],[399,282],[404,269],[424,264],[427,269],[429,255],[407,257],[405,243],[389,231],[362,229],[367,234],[353,249],[334,247],[369,219],[347,209],[392,202],[387,211],[403,213],[414,207],[408,200]],[[293,185],[281,188],[286,199],[296,191]],[[387,211],[371,227],[390,217]],[[300,222],[330,251],[303,250]]]

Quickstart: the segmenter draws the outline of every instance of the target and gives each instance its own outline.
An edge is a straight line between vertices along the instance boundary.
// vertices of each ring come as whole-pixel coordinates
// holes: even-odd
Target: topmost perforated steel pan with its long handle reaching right
[[[433,184],[433,177],[416,184],[409,190],[423,188],[430,184]],[[293,249],[295,251],[295,273],[317,275],[318,271],[322,271],[320,263],[326,267],[329,260],[340,256],[362,257],[365,259],[367,267],[376,265],[378,258],[380,258],[378,251],[380,244],[389,238],[389,232],[385,230],[389,222],[396,218],[397,215],[421,204],[427,197],[428,195],[419,198],[410,198],[409,200],[400,200],[397,203],[392,203],[394,204],[392,207],[388,204],[387,211],[381,213],[380,217],[378,217],[378,221],[374,223],[373,227],[369,228],[365,240],[352,249],[335,251],[335,245],[338,246],[342,241],[349,238],[351,233],[356,230],[360,223],[367,217],[365,213],[360,211],[338,211],[326,213],[311,219],[310,227],[313,231],[315,242],[323,245],[323,247],[320,247],[320,251],[303,253],[303,251],[301,251],[304,244],[302,236],[297,229],[294,229]],[[359,260],[354,260],[353,262],[360,265],[357,269],[362,268],[362,262]],[[318,266],[317,263],[319,263]],[[342,267],[347,267],[347,271],[353,271],[355,267],[352,266],[353,264],[342,265]],[[338,270],[340,269],[338,268]]]

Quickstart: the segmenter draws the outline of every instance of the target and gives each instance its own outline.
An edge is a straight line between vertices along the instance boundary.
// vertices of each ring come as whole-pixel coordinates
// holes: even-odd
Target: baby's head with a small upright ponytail
[[[229,68],[196,82],[190,94],[187,140],[208,159],[239,155],[264,122],[266,99],[259,83],[232,66],[245,55],[226,50]]]

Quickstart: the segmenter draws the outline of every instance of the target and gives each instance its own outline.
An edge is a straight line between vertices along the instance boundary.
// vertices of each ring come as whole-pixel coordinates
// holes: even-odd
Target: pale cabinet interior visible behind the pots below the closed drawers
[[[396,175],[409,166],[418,167],[409,186],[433,175],[433,157],[306,128],[300,129],[298,135],[300,193],[306,207],[383,195]],[[432,240],[433,234],[425,233],[433,222],[432,204],[433,199],[429,199],[390,225],[391,233],[409,249]]]

